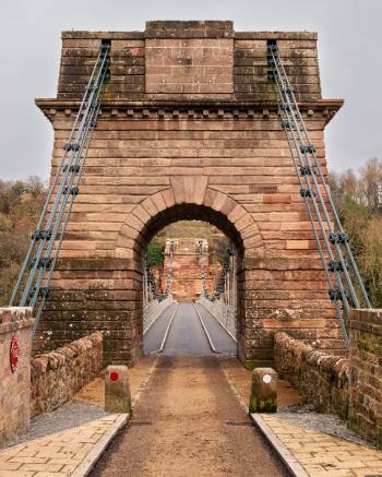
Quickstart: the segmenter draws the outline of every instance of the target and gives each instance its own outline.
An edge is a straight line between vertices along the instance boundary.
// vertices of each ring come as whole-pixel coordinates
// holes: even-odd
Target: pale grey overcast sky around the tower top
[[[142,31],[146,20],[232,20],[236,31],[315,31],[324,98],[345,105],[326,129],[330,167],[382,157],[382,0],[2,0],[0,178],[47,178],[63,29]]]

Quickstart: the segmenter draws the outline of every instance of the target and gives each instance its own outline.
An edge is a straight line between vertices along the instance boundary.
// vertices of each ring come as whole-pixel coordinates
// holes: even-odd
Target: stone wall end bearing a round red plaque
[[[29,425],[31,308],[0,308],[0,445]],[[11,339],[19,344],[19,362],[11,370]]]

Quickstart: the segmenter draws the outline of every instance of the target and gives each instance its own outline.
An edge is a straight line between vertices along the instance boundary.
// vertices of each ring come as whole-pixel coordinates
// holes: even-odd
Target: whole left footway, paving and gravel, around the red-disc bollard
[[[150,381],[155,360],[144,358],[130,370],[134,405]],[[75,401],[33,419],[28,432],[0,451],[0,477],[86,476],[128,421],[126,414],[104,412],[104,378],[97,378],[75,395]]]

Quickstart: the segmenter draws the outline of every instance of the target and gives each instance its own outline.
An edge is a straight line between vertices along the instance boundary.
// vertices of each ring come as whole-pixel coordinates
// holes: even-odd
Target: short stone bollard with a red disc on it
[[[105,374],[105,410],[131,414],[131,395],[127,366],[108,366]]]

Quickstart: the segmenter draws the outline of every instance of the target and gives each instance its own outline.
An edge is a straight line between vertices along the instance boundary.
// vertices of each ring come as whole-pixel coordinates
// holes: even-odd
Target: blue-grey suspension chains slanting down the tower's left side
[[[10,307],[17,303],[36,309],[33,337],[49,296],[69,216],[79,194],[100,99],[109,77],[109,51],[110,45],[103,44],[9,303]]]

